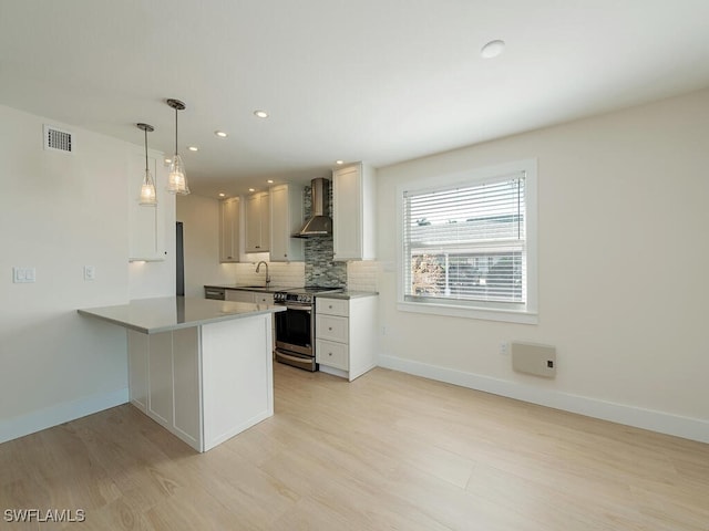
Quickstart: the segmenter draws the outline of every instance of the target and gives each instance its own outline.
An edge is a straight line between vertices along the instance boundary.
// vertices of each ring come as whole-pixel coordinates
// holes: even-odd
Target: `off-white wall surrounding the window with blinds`
[[[540,324],[397,310],[395,187],[537,158]],[[378,171],[380,364],[709,441],[709,91]],[[503,341],[556,345],[546,381]]]

